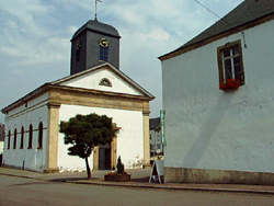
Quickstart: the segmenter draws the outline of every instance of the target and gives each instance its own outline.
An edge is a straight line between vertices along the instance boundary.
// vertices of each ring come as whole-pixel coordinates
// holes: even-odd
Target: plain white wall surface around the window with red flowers
[[[274,172],[274,21],[162,62],[165,167]],[[219,90],[217,47],[241,39],[246,84]]]

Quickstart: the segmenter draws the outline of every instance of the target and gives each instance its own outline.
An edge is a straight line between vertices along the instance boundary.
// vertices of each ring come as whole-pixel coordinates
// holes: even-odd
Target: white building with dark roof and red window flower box
[[[273,35],[274,1],[246,0],[159,57],[167,182],[274,184]]]

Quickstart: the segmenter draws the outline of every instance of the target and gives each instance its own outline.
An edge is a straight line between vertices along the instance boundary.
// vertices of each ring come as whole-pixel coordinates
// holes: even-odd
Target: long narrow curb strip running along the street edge
[[[15,176],[15,178],[23,178],[23,179],[33,179],[39,180],[45,182],[57,182],[57,180],[44,180],[34,176],[24,176],[24,175],[16,175],[16,174],[7,174],[0,173],[0,175],[7,176]],[[118,184],[114,182],[76,182],[76,181],[66,181],[66,179],[60,179],[58,182],[62,183],[70,183],[70,184],[85,184],[85,185],[99,185],[99,186],[115,186],[115,187],[130,187],[130,188],[152,188],[152,190],[169,190],[169,191],[197,191],[197,192],[217,192],[217,193],[246,193],[246,194],[261,194],[261,195],[274,195],[274,191],[255,191],[255,190],[241,190],[241,188],[209,188],[209,187],[195,187],[195,186],[174,186],[174,185],[167,185],[167,184]]]

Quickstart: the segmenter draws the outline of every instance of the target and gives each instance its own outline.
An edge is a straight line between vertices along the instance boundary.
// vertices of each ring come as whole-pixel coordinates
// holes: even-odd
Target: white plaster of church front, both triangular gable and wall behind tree
[[[112,87],[100,85],[102,79],[109,79]],[[61,82],[62,85],[95,89],[107,92],[128,93],[133,95],[141,95],[141,93],[133,88],[129,83],[118,77],[113,70],[102,68],[92,72]],[[102,107],[89,107],[79,105],[61,105],[59,111],[59,121],[69,121],[77,114],[96,113],[113,118],[113,123],[122,129],[117,134],[117,157],[121,156],[126,168],[133,168],[137,162],[144,159],[144,129],[142,113],[138,111],[113,110]],[[59,122],[59,123],[60,123]],[[58,165],[61,170],[85,170],[83,159],[68,156],[69,145],[64,145],[64,135],[59,134],[58,140]],[[90,165],[93,165],[93,153],[90,157]],[[77,167],[76,167],[77,165]]]

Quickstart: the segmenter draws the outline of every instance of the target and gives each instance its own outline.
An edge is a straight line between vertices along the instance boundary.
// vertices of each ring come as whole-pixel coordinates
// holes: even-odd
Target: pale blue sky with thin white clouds
[[[243,0],[199,0],[224,16]],[[219,18],[195,0],[102,0],[98,20],[119,32],[121,70],[152,93],[150,117],[162,102],[161,62],[167,54]],[[70,71],[70,39],[94,19],[94,0],[0,1],[0,108]],[[0,114],[0,123],[4,115]]]

